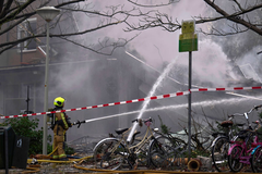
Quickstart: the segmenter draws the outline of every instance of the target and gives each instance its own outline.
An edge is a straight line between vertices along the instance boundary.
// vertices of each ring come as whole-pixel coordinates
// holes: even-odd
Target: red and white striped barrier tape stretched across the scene
[[[103,107],[119,105],[119,104],[133,103],[133,102],[146,101],[146,100],[156,100],[156,99],[171,98],[171,97],[177,97],[177,96],[184,96],[184,95],[188,95],[189,92],[192,92],[192,91],[225,91],[225,90],[249,90],[249,89],[262,89],[262,86],[258,86],[258,87],[233,87],[233,88],[198,88],[198,89],[190,89],[189,91],[181,91],[181,92],[169,94],[169,95],[153,96],[153,97],[146,97],[146,98],[142,98],[142,99],[120,101],[120,102],[111,102],[111,103],[107,103],[107,104],[83,107],[83,108],[75,108],[75,109],[68,109],[68,110],[60,110],[60,111],[51,111],[51,112],[39,112],[39,113],[32,113],[32,114],[0,116],[0,119],[12,119],[12,117],[44,115],[44,114],[59,113],[59,112],[90,110],[90,109],[94,109],[94,108],[103,108]]]

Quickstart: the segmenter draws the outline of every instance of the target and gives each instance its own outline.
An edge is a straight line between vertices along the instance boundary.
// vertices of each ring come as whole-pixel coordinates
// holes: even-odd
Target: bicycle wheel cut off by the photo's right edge
[[[251,167],[254,173],[262,173],[262,147],[257,148],[252,153]]]

